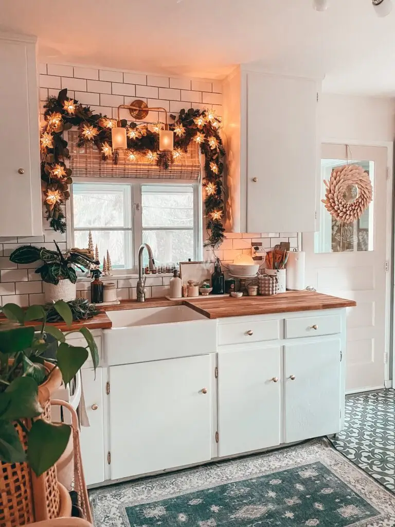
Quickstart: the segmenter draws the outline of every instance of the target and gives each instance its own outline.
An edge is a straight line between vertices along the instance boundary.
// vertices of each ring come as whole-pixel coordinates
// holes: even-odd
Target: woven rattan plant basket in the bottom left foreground
[[[58,368],[45,363],[51,376],[38,387],[38,400],[44,408],[42,418],[51,421],[51,394],[62,384]],[[24,419],[27,428],[31,420]],[[15,424],[19,439],[27,448],[26,434]],[[71,500],[67,491],[57,481],[56,467],[52,466],[41,476],[36,476],[28,463],[0,462],[0,525],[16,527],[34,521],[51,520],[71,514]]]

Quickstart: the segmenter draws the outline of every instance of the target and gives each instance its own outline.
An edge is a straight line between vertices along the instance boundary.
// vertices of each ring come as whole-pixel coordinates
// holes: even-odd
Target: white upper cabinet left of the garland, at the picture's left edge
[[[36,45],[0,33],[0,236],[41,236]]]

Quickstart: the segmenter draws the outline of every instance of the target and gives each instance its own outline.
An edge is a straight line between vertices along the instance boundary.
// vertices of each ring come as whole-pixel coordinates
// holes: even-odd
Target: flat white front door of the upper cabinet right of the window
[[[245,75],[247,232],[314,231],[317,83]]]

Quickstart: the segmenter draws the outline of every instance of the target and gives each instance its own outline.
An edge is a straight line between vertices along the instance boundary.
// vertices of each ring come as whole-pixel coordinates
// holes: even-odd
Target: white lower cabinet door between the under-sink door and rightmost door
[[[281,348],[218,353],[219,455],[280,444]]]

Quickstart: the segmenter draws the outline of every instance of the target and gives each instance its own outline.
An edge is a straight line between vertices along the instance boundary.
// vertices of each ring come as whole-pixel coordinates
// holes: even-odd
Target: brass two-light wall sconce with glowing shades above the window
[[[132,104],[121,104],[118,106],[118,120],[116,126],[111,130],[111,139],[113,143],[113,150],[126,150],[126,128],[121,126],[120,109],[125,108],[129,110],[134,119],[142,120],[148,115],[148,112],[164,112],[165,114],[165,129],[159,130],[159,150],[161,152],[168,152],[174,147],[174,132],[169,130],[167,124],[167,111],[164,108],[149,108],[144,101],[136,100]]]

